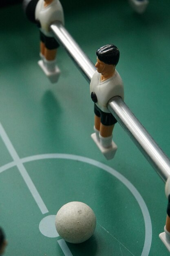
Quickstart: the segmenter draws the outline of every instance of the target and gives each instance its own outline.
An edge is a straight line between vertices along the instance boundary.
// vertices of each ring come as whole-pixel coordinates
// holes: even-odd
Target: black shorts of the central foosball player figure
[[[94,106],[94,112],[97,117],[101,117],[101,123],[106,126],[110,126],[117,123],[117,120],[111,113],[106,113],[100,110],[97,105]]]

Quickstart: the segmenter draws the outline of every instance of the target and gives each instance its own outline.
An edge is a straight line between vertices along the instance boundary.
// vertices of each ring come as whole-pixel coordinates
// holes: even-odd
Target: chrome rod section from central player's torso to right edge
[[[170,175],[170,159],[163,153],[121,97],[110,99],[108,109],[126,130],[148,162],[155,168],[155,171],[166,182]]]

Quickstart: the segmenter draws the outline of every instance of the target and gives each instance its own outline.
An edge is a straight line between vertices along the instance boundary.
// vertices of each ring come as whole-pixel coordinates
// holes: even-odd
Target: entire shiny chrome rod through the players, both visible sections
[[[51,30],[57,42],[65,48],[88,83],[90,83],[95,72],[94,64],[77,45],[61,22],[54,22],[51,25]],[[113,97],[108,102],[108,109],[128,135],[130,135],[130,138],[135,142],[148,162],[155,168],[159,176],[166,182],[170,176],[170,159],[163,153],[124,101],[120,97]]]

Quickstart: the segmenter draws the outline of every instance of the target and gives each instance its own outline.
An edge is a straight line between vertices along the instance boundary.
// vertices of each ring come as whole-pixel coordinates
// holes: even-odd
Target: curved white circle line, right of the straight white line
[[[144,223],[145,223],[145,241],[144,241],[144,248],[142,251],[141,256],[147,256],[150,252],[150,247],[152,243],[152,223],[150,219],[150,214],[148,211],[148,208],[141,197],[140,193],[137,191],[135,186],[130,183],[129,180],[127,180],[123,175],[121,175],[119,172],[115,171],[113,168],[102,164],[96,160],[87,158],[87,157],[82,157],[82,156],[77,156],[77,155],[69,155],[69,154],[42,154],[42,155],[34,155],[30,157],[25,157],[22,158],[22,162],[30,162],[30,161],[35,161],[35,160],[40,160],[40,159],[52,159],[52,158],[57,158],[57,159],[71,159],[71,160],[77,160],[81,162],[85,162],[94,166],[97,166],[99,168],[104,169],[111,175],[115,176],[118,180],[120,180],[132,193],[132,195],[135,197],[137,200],[139,207],[141,209],[141,212],[144,216]]]

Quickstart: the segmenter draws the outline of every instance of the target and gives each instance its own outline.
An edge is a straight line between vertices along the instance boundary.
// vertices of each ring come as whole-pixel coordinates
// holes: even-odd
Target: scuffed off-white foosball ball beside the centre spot
[[[58,234],[67,242],[83,243],[93,235],[96,217],[87,204],[69,202],[57,212],[55,227]]]

